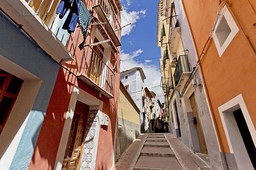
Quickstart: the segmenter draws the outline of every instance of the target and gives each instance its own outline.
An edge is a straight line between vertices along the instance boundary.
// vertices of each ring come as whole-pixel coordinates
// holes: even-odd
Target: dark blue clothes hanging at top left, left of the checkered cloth
[[[68,30],[68,32],[71,34],[75,31],[76,23],[79,17],[80,0],[61,0],[56,13],[59,14],[59,18],[62,19],[69,9],[70,12],[62,26],[62,29]]]

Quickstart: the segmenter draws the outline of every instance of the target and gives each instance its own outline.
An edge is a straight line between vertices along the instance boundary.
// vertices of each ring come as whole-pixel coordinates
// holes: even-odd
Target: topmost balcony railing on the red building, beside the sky
[[[121,38],[121,26],[118,22],[118,18],[116,16],[115,10],[113,8],[113,4],[110,3],[109,0],[98,0],[96,5],[100,5],[102,10],[105,13],[105,16],[108,18],[111,27],[113,28],[116,36],[118,37],[119,41]]]

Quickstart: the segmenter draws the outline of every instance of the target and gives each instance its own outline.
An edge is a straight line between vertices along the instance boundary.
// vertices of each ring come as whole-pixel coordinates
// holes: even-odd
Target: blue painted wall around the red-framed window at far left
[[[10,169],[27,169],[44,121],[59,65],[46,56],[2,12],[0,12],[0,30],[0,54],[42,80],[10,167]]]

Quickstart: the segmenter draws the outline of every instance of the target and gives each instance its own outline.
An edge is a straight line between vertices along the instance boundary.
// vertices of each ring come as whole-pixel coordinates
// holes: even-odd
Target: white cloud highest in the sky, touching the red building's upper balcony
[[[121,27],[131,23],[131,25],[125,26],[122,28],[122,36],[129,35],[134,27],[136,27],[136,22],[141,17],[144,17],[146,10],[140,11],[127,11],[127,8],[123,8],[121,11]]]

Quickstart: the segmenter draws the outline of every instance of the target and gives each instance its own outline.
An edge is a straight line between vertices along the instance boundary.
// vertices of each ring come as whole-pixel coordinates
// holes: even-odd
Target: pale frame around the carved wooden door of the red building
[[[91,169],[95,168],[103,102],[100,101],[99,99],[95,98],[90,93],[80,89],[79,87],[74,86],[73,92],[71,94],[69,108],[68,108],[67,114],[66,114],[65,124],[64,124],[63,130],[62,130],[62,135],[61,135],[61,139],[60,139],[60,143],[59,143],[59,148],[58,148],[58,152],[57,152],[57,156],[56,156],[56,160],[55,160],[54,169],[61,169],[61,167],[62,167],[62,162],[63,162],[63,158],[65,155],[66,147],[67,147],[70,128],[71,128],[72,119],[73,119],[74,110],[75,110],[77,101],[90,106],[89,112],[91,110],[98,110],[97,116],[96,116],[97,125],[96,125],[96,135],[94,137],[94,140],[95,140],[94,152],[93,152],[92,161],[90,164]]]

